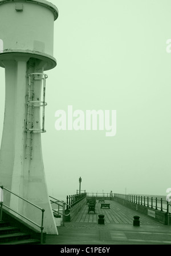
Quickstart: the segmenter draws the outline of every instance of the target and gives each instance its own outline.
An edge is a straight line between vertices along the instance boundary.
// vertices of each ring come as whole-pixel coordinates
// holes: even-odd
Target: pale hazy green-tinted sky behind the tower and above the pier
[[[59,17],[54,23],[57,66],[46,71],[47,132],[42,134],[49,194],[57,199],[76,194],[81,176],[86,192],[166,195],[171,187],[170,0],[51,3]],[[1,137],[2,68],[0,76]],[[98,129],[57,131],[55,113],[67,115],[68,106],[85,115],[115,110],[116,135]]]

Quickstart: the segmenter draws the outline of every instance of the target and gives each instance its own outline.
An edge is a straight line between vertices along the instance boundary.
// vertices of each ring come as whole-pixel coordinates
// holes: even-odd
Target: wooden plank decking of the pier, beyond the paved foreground
[[[128,207],[123,206],[113,200],[105,200],[105,203],[110,204],[110,208],[101,208],[101,203],[96,200],[95,212],[90,211],[88,213],[88,204],[86,204],[82,210],[71,220],[75,223],[97,223],[99,219],[99,214],[104,214],[105,223],[117,223],[117,224],[132,224],[133,216],[140,216],[140,223],[144,225],[157,225],[158,222],[153,220],[149,216],[141,214],[140,212],[131,210]]]

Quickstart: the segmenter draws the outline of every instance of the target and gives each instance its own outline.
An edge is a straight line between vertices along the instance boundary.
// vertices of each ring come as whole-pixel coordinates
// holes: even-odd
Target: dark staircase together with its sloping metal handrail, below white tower
[[[41,224],[35,223],[33,220],[28,219],[26,216],[20,214],[18,211],[3,203],[3,191],[17,196],[34,208],[38,208],[39,212],[41,211]],[[3,186],[0,186],[0,245],[26,245],[35,243],[42,245],[45,243],[46,232],[43,232],[44,211],[45,210],[43,208],[36,206],[27,199],[22,198]],[[31,225],[27,222],[31,223]],[[32,225],[36,226],[36,229]],[[37,227],[40,229],[40,231],[37,230]]]

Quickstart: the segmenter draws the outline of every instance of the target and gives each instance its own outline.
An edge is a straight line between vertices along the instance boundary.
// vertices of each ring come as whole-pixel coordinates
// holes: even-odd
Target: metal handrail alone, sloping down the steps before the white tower
[[[36,206],[34,203],[31,203],[30,201],[28,201],[27,199],[25,198],[22,198],[21,196],[15,194],[14,192],[8,190],[7,188],[3,187],[3,186],[0,186],[2,191],[3,190],[6,190],[8,192],[10,192],[10,194],[13,194],[15,196],[17,196],[18,198],[22,199],[23,201],[31,204],[32,206],[38,208],[40,211],[42,211],[42,220],[41,220],[41,225],[38,225],[37,223],[35,223],[34,221],[32,221],[31,219],[28,219],[26,216],[22,215],[22,214],[19,214],[19,212],[15,211],[14,209],[10,208],[9,206],[6,206],[6,204],[4,204],[3,202],[0,202],[0,205],[1,205],[1,212],[0,212],[0,221],[2,221],[2,208],[3,206],[8,208],[9,210],[15,212],[16,214],[18,214],[19,216],[21,216],[22,218],[28,220],[28,222],[31,222],[32,224],[34,224],[35,226],[39,227],[40,228],[40,243],[42,244],[43,243],[43,216],[44,216],[44,209],[43,208],[40,208],[39,206]]]

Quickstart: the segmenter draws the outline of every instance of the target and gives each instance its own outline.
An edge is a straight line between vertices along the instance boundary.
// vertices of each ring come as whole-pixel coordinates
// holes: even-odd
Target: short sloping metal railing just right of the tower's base
[[[52,196],[49,196],[49,197],[50,197],[51,204],[54,203],[54,204],[56,204],[58,206],[58,210],[52,208],[52,211],[54,213],[57,212],[58,214],[61,214],[63,216],[63,226],[64,226],[64,216],[70,215],[70,212],[68,214],[65,213],[66,209],[71,208],[70,204],[67,204],[64,201],[60,201],[60,200],[58,200],[56,198],[53,198]]]

